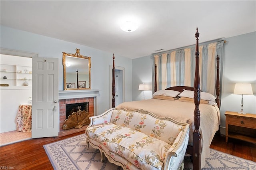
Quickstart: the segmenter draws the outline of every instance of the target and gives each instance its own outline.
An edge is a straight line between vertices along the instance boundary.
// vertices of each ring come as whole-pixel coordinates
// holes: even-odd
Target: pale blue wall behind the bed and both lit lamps
[[[224,44],[222,103],[220,107],[221,127],[225,127],[225,111],[240,111],[241,95],[234,95],[235,83],[251,83],[254,95],[244,95],[244,111],[256,114],[256,32],[225,38]],[[170,49],[172,49],[170,47]],[[132,99],[143,99],[138,91],[140,83],[152,81],[152,59],[150,56],[132,60]],[[147,93],[146,93],[147,92]],[[151,96],[150,96],[151,95]],[[151,91],[145,91],[145,99],[152,97]],[[223,128],[221,129],[224,134]]]

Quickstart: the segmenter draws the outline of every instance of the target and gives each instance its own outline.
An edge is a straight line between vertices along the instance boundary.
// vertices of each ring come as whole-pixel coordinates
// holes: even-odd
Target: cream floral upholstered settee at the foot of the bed
[[[98,148],[102,160],[106,156],[110,162],[129,170],[184,168],[187,123],[160,118],[144,110],[115,108],[90,119],[87,146]]]

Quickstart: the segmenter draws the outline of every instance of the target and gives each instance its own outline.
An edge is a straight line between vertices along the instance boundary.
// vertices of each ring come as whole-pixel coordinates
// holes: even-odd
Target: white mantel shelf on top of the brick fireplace
[[[82,97],[97,97],[100,90],[60,90],[59,99],[77,99]]]

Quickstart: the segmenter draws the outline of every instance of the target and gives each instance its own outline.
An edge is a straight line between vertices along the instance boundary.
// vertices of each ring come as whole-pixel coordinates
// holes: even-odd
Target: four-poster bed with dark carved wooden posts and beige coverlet
[[[201,156],[202,159],[205,159],[207,153],[207,147],[210,146],[210,142],[218,130],[220,125],[220,81],[219,81],[219,57],[217,57],[217,76],[216,76],[216,104],[213,105],[200,105],[201,99],[201,91],[200,91],[200,73],[199,73],[199,50],[198,50],[198,28],[196,28],[196,62],[195,62],[195,76],[194,76],[194,87],[187,86],[175,86],[169,87],[166,90],[172,91],[194,91],[194,104],[191,102],[178,102],[178,100],[174,101],[160,101],[158,99],[148,99],[145,101],[133,101],[133,102],[125,102],[117,106],[117,108],[125,108],[125,109],[144,109],[150,111],[158,116],[162,117],[171,117],[176,119],[177,121],[186,122],[190,124],[190,144],[187,147],[186,153],[192,155],[193,157],[193,169],[199,170],[201,169]],[[154,92],[157,91],[157,81],[156,81],[156,65],[155,65],[155,83],[154,83]],[[113,72],[114,72],[114,55],[113,55]],[[112,107],[115,107],[114,95],[115,95],[115,84],[114,84],[114,73],[112,74]],[[202,92],[203,93],[203,92]],[[154,100],[152,102],[152,100]],[[135,102],[138,105],[135,105]],[[152,102],[152,103],[151,103]],[[182,104],[182,105],[181,105]],[[192,107],[194,105],[194,115],[192,115]],[[200,105],[200,107],[199,107]],[[174,109],[174,107],[178,107],[178,109]],[[210,108],[210,109],[209,109]],[[178,111],[177,111],[178,110]],[[206,113],[206,110],[211,110],[209,113]],[[174,112],[174,115],[169,115],[170,112]],[[188,113],[188,114],[187,114]],[[201,113],[203,113],[201,115]],[[182,115],[178,117],[177,115]],[[217,116],[216,116],[217,115]],[[202,120],[202,122],[201,122]],[[212,122],[211,122],[212,121]],[[201,127],[200,127],[201,123]],[[212,128],[209,128],[209,126]],[[201,132],[203,132],[204,138],[201,136]],[[204,147],[202,147],[204,146]],[[203,149],[203,154],[202,154]],[[203,160],[204,161],[204,160]]]

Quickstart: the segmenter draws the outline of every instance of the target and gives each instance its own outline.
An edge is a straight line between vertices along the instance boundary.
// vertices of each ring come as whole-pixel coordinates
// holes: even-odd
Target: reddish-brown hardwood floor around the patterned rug
[[[44,151],[43,145],[82,133],[84,133],[84,131],[60,137],[30,139],[2,146],[0,147],[1,169],[4,169],[6,166],[8,169],[12,168],[16,170],[52,170],[52,165]],[[214,136],[210,148],[256,162],[256,144],[232,138],[226,143],[225,136],[216,135]],[[4,167],[2,168],[2,166]]]

